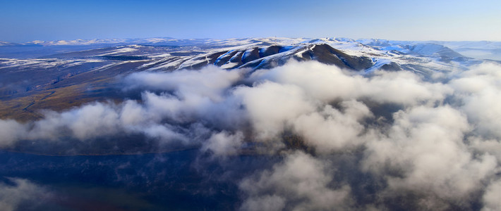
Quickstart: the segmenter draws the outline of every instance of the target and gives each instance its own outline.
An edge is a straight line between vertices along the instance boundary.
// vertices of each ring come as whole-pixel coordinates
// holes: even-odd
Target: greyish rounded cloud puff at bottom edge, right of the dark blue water
[[[242,210],[330,210],[349,200],[349,186],[332,188],[332,172],[325,162],[301,152],[284,162],[243,179],[240,188],[249,195]]]

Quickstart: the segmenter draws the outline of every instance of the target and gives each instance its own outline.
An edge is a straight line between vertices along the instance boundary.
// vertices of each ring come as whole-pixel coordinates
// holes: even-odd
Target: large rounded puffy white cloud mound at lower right
[[[368,141],[364,159],[364,168],[386,177],[394,193],[468,199],[495,173],[492,155],[474,158],[468,151],[464,134],[469,124],[458,110],[419,106],[395,113],[394,121],[387,134]]]

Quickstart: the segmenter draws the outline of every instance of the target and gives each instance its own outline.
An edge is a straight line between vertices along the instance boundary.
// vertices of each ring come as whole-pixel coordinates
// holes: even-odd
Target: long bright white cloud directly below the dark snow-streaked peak
[[[423,101],[440,101],[452,92],[444,84],[424,82],[419,75],[409,71],[381,71],[363,77],[332,65],[294,61],[272,70],[254,72],[250,79],[294,84],[308,96],[323,102],[370,98],[379,103],[415,105]]]

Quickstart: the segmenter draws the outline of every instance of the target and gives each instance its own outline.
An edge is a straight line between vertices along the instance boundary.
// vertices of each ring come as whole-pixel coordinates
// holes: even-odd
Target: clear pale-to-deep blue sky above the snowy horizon
[[[501,41],[501,1],[0,0],[0,40],[349,37]]]

